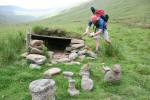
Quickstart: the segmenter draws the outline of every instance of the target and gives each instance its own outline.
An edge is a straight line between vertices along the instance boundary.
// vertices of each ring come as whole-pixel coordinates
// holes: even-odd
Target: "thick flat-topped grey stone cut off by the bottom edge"
[[[55,100],[55,81],[40,79],[30,83],[32,100]]]

